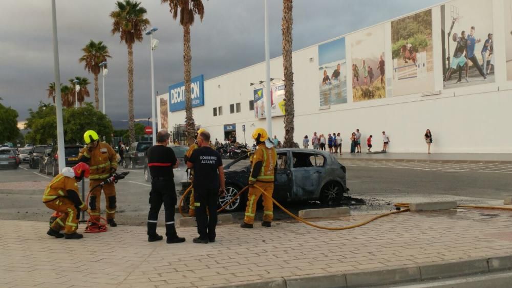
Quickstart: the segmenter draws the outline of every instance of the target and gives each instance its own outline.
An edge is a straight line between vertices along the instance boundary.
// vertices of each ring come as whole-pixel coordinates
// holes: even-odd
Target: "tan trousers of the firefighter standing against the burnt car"
[[[273,182],[261,182],[257,181],[255,183],[258,187],[263,189],[267,194],[272,196],[272,192],[274,191],[274,183]],[[260,198],[261,192],[260,189],[256,187],[249,187],[249,195],[247,198],[247,206],[245,208],[245,218],[244,222],[247,224],[254,224],[254,215],[256,214],[256,204],[258,203],[258,199]],[[263,221],[271,222],[273,218],[273,205],[272,199],[263,194]]]

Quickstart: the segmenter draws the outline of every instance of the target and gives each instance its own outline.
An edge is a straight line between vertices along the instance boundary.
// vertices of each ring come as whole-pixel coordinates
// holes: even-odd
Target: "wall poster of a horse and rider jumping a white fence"
[[[434,90],[432,10],[391,22],[393,96]]]

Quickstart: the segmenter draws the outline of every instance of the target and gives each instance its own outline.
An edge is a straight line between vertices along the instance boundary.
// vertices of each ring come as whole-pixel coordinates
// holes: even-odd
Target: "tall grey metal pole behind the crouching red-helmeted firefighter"
[[[60,96],[60,68],[59,47],[57,38],[57,13],[55,0],[52,0],[52,27],[53,27],[53,73],[55,74],[55,106],[57,110],[57,148],[59,156],[59,171],[66,167],[64,154],[64,127],[62,125],[62,99]]]

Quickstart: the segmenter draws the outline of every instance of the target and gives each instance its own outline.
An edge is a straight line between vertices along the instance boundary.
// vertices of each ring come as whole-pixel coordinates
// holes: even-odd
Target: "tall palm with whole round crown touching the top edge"
[[[121,42],[128,48],[128,129],[130,141],[135,142],[135,116],[133,108],[133,44],[142,41],[142,33],[150,25],[150,20],[145,18],[146,9],[140,6],[140,2],[123,0],[116,2],[116,10],[110,13],[114,20],[112,23],[112,35],[119,33]]]

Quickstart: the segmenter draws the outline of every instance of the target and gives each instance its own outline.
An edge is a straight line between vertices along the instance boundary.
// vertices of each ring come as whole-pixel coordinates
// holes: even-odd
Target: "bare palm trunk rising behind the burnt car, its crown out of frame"
[[[293,147],[295,126],[295,108],[293,106],[293,69],[292,69],[292,26],[293,0],[283,0],[283,71],[285,77],[285,141],[284,147]]]

